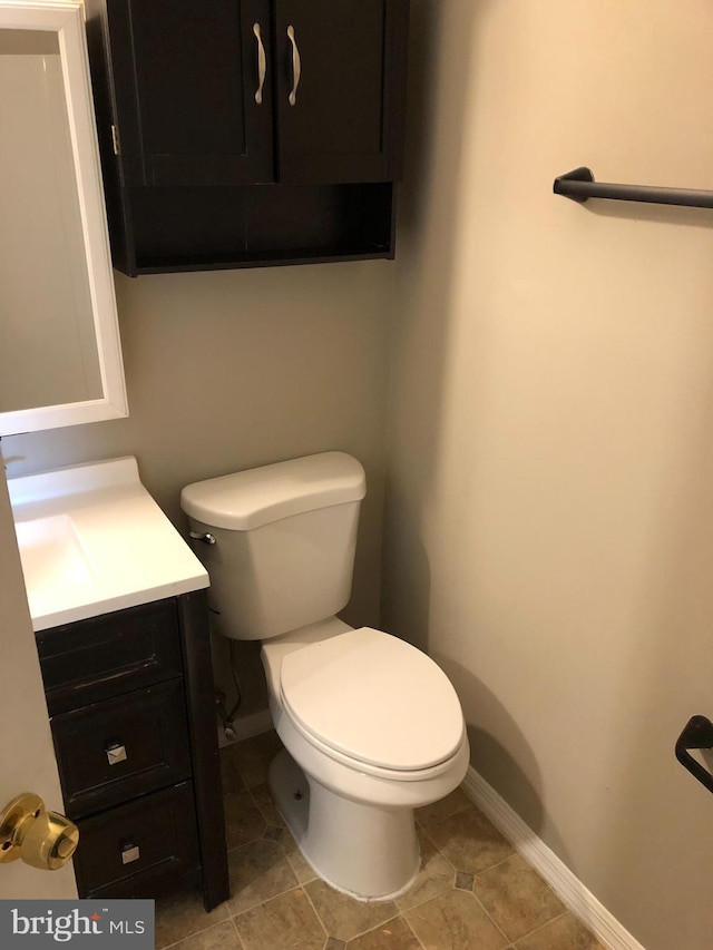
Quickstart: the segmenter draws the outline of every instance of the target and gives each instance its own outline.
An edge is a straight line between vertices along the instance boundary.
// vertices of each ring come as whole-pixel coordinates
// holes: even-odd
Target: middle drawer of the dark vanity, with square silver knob
[[[191,775],[182,679],[64,713],[51,726],[70,817]]]

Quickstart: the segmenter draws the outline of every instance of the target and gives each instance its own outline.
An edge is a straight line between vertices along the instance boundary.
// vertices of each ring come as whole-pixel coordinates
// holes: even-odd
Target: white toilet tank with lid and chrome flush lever
[[[336,614],[352,587],[364,470],[323,452],[189,484],[180,507],[214,545],[195,550],[211,577],[214,628],[276,637]]]

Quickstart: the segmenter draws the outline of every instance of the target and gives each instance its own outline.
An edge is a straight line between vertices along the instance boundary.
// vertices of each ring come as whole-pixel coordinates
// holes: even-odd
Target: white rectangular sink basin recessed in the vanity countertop
[[[17,521],[20,560],[28,588],[85,584],[92,569],[69,515]]]

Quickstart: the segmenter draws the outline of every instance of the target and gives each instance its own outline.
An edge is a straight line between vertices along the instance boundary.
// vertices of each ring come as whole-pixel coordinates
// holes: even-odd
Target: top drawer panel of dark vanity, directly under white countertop
[[[182,675],[174,599],[37,634],[50,716]]]

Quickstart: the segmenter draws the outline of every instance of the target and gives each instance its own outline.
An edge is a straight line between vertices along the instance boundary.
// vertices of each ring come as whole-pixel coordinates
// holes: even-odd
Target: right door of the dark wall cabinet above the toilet
[[[276,0],[279,178],[398,177],[408,0]]]

